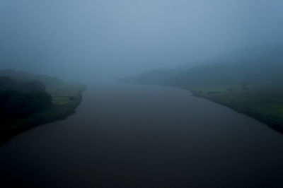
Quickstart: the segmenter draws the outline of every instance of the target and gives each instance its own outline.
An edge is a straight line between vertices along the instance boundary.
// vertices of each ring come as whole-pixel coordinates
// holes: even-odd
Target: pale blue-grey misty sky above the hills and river
[[[282,0],[0,0],[0,68],[128,76],[282,41]]]

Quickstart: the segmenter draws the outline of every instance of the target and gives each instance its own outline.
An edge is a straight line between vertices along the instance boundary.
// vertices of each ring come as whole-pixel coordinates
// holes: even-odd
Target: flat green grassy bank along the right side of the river
[[[281,88],[246,88],[241,86],[187,87],[192,95],[211,100],[241,112],[283,133],[283,90]]]

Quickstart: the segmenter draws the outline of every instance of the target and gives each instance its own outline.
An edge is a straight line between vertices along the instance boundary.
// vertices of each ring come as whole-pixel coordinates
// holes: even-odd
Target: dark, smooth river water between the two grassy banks
[[[186,90],[88,87],[0,146],[0,187],[283,187],[283,135]]]

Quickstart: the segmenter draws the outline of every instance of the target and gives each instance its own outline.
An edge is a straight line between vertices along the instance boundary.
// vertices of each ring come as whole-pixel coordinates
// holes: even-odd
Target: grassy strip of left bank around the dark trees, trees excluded
[[[10,119],[1,123],[0,145],[23,131],[32,129],[41,124],[66,119],[71,114],[74,114],[76,107],[81,103],[84,90],[86,90],[86,88],[83,85],[72,86],[71,88],[69,86],[50,88],[47,90],[47,93],[52,96],[51,107],[42,112],[31,114],[29,117]]]

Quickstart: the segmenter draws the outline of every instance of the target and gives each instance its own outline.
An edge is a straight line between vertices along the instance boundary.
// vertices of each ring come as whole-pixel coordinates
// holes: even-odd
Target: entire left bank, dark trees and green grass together
[[[23,71],[0,71],[0,143],[39,124],[64,119],[85,86]]]

